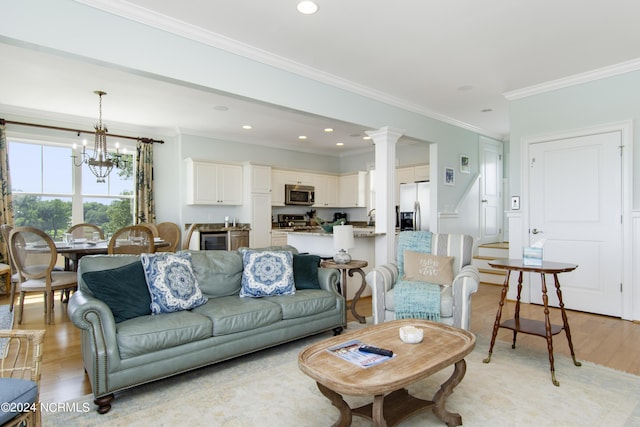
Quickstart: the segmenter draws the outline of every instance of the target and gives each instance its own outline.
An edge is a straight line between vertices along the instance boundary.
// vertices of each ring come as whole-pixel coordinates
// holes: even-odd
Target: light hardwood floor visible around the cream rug
[[[480,290],[473,296],[471,331],[476,335],[491,337],[495,320],[500,286],[480,285]],[[8,304],[6,296],[0,297],[0,304]],[[505,304],[502,319],[513,316],[515,304]],[[66,305],[56,299],[54,322],[44,323],[44,307],[42,298],[27,298],[22,325],[14,325],[16,329],[46,329],[41,400],[43,402],[63,402],[91,393],[89,381],[82,367],[80,353],[80,331],[66,315]],[[371,300],[364,298],[357,304],[358,313],[371,315]],[[521,316],[532,319],[544,319],[542,307],[523,304]],[[578,360],[587,360],[614,369],[640,375],[640,324],[606,316],[568,312],[569,326],[574,349]],[[349,320],[353,320],[349,313]],[[551,310],[552,323],[560,323],[559,310]],[[500,329],[498,339],[511,342],[511,331]],[[518,334],[518,347],[530,347],[546,353],[546,341],[543,338]],[[569,355],[569,348],[564,332],[553,339],[555,354]],[[494,353],[494,360],[498,360]]]

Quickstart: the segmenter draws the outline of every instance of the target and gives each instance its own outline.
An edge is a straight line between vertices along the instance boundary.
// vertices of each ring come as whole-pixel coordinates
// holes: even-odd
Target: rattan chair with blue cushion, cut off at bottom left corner
[[[6,409],[0,412],[0,425],[40,426],[40,377],[43,330],[0,330],[0,340],[5,340],[2,364],[0,364],[0,395]],[[17,410],[17,404],[32,410]],[[12,408],[16,404],[16,408]]]

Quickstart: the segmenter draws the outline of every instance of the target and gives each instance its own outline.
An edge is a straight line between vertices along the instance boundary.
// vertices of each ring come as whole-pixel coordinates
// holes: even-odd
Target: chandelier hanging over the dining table
[[[93,148],[93,155],[87,155],[87,145],[86,143],[84,143],[82,145],[82,155],[80,156],[80,163],[76,162],[78,156],[74,154],[71,157],[73,157],[73,164],[77,167],[80,167],[83,163],[85,163],[89,167],[91,173],[96,176],[96,182],[101,183],[106,182],[105,178],[109,176],[114,166],[118,169],[126,168],[127,161],[125,160],[125,158],[123,158],[123,155],[120,154],[120,148],[117,143],[115,153],[107,152],[107,132],[109,132],[109,130],[102,124],[102,96],[106,95],[107,93],[101,90],[96,90],[93,93],[98,95],[100,98],[100,116],[98,118],[98,123],[94,126],[96,130],[96,140]]]

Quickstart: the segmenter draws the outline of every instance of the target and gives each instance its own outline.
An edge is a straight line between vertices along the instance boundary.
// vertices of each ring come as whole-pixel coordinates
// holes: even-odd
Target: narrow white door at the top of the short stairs
[[[480,138],[480,241],[502,241],[502,143]]]

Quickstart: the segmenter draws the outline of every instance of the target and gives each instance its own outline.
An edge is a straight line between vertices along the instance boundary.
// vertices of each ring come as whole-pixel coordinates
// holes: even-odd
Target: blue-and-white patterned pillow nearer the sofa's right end
[[[291,252],[244,250],[242,262],[241,297],[292,295],[296,292]]]

